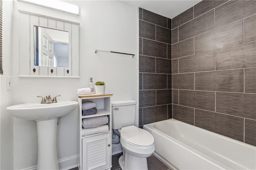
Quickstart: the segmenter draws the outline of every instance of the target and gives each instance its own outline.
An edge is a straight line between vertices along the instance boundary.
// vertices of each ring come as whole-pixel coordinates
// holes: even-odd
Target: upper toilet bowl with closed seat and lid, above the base
[[[121,129],[120,142],[127,150],[138,154],[152,154],[155,149],[152,134],[134,125]]]

